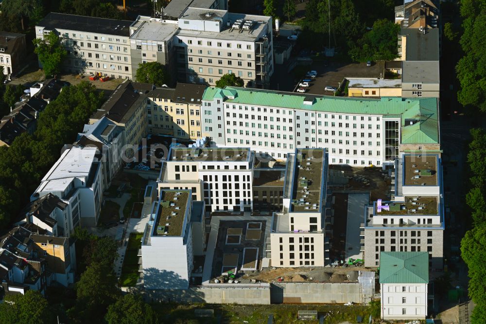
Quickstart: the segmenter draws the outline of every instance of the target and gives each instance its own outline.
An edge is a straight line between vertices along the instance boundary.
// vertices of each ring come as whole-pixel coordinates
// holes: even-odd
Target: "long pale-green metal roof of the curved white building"
[[[203,100],[213,101],[214,98],[221,98],[228,104],[400,118],[402,144],[439,143],[436,98],[355,98],[239,87],[206,88]],[[410,120],[418,122],[410,125]]]

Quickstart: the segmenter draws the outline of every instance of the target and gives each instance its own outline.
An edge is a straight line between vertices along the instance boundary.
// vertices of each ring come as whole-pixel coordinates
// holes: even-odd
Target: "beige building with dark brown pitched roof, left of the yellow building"
[[[126,144],[139,145],[147,136],[147,102],[146,95],[135,90],[130,81],[124,81],[103,106],[93,113],[89,124],[106,116],[118,126],[124,127]],[[130,155],[129,152],[126,154]]]

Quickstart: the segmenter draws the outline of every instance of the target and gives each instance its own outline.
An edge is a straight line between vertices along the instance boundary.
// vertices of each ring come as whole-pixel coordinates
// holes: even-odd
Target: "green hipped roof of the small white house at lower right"
[[[428,284],[429,252],[381,252],[380,284]]]

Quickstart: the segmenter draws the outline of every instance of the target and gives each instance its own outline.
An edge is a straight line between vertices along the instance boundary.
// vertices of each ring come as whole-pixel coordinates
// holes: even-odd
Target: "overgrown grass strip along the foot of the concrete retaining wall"
[[[378,305],[378,306],[376,306]],[[375,305],[375,314],[380,310],[380,304]],[[356,323],[356,317],[367,320],[372,311],[370,306],[343,305],[210,305],[210,304],[155,304],[154,309],[161,315],[163,323],[217,323],[214,319],[197,322],[194,309],[214,309],[214,315],[221,316],[224,323],[266,323],[268,315],[273,314],[274,323],[318,323],[317,321],[298,321],[298,310],[317,310],[318,316],[326,315],[324,323],[337,324],[342,322]],[[376,309],[376,307],[378,307]],[[200,319],[202,320],[202,319]],[[184,322],[181,322],[184,321]]]

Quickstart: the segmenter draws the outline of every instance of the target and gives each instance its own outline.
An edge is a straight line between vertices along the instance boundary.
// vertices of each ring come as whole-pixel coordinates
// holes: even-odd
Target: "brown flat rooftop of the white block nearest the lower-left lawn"
[[[182,235],[188,198],[187,190],[162,190],[154,236]]]

